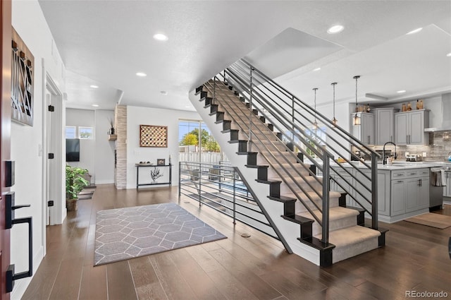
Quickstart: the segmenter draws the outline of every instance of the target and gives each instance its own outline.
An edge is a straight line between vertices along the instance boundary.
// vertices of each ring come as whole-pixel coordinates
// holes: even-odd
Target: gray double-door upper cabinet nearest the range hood
[[[396,145],[428,145],[429,134],[424,132],[428,126],[428,109],[395,113]]]

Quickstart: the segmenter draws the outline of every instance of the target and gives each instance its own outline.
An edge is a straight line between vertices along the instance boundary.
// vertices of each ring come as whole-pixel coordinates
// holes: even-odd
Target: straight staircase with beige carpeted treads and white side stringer
[[[362,208],[344,207],[346,193],[330,191],[330,180],[334,178],[330,174],[340,174],[335,172],[339,165],[334,164],[334,153],[328,152],[316,140],[306,140],[306,131],[296,125],[294,113],[288,118],[286,114],[279,116],[280,108],[274,103],[280,102],[280,97],[272,103],[262,100],[266,98],[266,92],[257,88],[252,90],[252,79],[254,84],[258,80],[255,75],[252,78],[254,68],[249,68],[250,84],[238,78],[238,68],[245,66],[247,63],[242,61],[235,69],[228,68],[221,78],[215,77],[190,92],[190,100],[218,140],[221,150],[240,169],[249,191],[287,251],[317,265],[328,266],[383,246],[385,231],[377,230],[377,217],[373,229],[364,227],[364,214],[374,219],[377,209],[373,214],[367,204]],[[264,81],[271,80],[264,78]],[[262,85],[259,84],[260,88]],[[292,97],[292,107],[295,106],[294,99]],[[316,121],[321,115],[314,112],[314,116]],[[303,124],[304,120],[299,123]],[[291,129],[291,136],[283,130],[276,131],[276,128]],[[352,137],[346,137],[355,145]],[[300,151],[292,151],[292,145]],[[357,146],[368,151],[364,146]],[[321,157],[322,163],[313,160],[312,153]],[[304,163],[304,157],[311,161]],[[323,176],[318,176],[316,169],[321,170]],[[336,184],[344,186],[339,182]],[[373,196],[372,200],[377,198]]]

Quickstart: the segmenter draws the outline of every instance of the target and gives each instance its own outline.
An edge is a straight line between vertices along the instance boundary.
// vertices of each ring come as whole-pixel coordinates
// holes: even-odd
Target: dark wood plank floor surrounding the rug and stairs
[[[93,267],[97,210],[166,202],[179,203],[228,239]],[[439,213],[451,215],[451,205]],[[382,226],[390,229],[384,248],[320,268],[210,208],[178,200],[176,187],[100,185],[64,224],[47,227],[47,256],[23,299],[404,299],[409,290],[445,291],[451,299],[451,227]]]

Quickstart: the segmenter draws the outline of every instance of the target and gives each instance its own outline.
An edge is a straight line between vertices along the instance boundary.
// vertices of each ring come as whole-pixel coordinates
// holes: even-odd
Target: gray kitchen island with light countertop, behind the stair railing
[[[371,176],[371,171],[359,162],[353,163],[354,167],[359,168],[363,174]],[[348,172],[352,172],[355,179],[345,170],[332,164],[331,167],[337,173],[345,177],[348,182],[354,186],[352,197],[346,197],[348,207],[359,207],[356,200],[362,203],[367,209],[371,210],[370,204],[366,203],[363,196],[371,198],[369,191],[363,188],[362,184],[371,186],[369,180],[364,175],[350,166],[349,163],[341,164]],[[451,164],[445,162],[395,162],[393,164],[378,164],[378,220],[381,222],[393,223],[400,220],[421,215],[429,212],[429,193],[431,188],[431,168],[433,167],[451,167]],[[344,180],[333,174],[331,176],[344,184]],[[362,182],[362,184],[359,183]],[[331,191],[342,191],[340,186],[334,181],[330,182]]]

